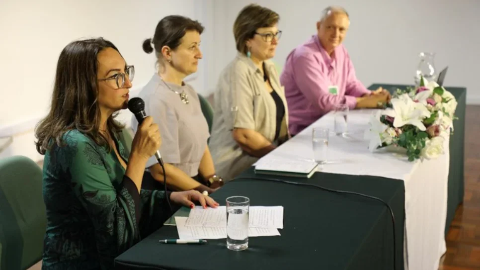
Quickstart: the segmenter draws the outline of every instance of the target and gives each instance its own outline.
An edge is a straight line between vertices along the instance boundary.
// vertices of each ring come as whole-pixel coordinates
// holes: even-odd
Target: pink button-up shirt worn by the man
[[[345,47],[337,46],[330,58],[317,35],[288,55],[280,82],[285,87],[292,135],[337,104],[355,108],[356,97],[370,93],[357,80]],[[329,86],[337,86],[337,94],[330,93]]]

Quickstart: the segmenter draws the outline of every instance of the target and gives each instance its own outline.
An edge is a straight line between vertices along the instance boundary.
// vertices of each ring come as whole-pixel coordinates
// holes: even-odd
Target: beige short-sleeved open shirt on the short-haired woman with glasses
[[[209,148],[217,174],[232,180],[258,159],[244,152],[232,136],[234,128],[253,129],[279,145],[288,137],[288,108],[284,88],[272,61],[265,61],[265,73],[285,107],[280,135],[275,139],[275,101],[265,88],[262,72],[250,58],[238,53],[223,70],[214,94],[214,119]]]

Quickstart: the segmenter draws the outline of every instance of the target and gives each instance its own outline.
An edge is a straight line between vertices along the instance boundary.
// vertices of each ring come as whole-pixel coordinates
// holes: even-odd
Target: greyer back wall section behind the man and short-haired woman
[[[283,31],[274,58],[285,63],[288,53],[316,33],[320,11],[342,5],[350,14],[344,41],[357,77],[372,83],[412,84],[418,53],[436,53],[438,71],[449,66],[446,86],[467,87],[467,102],[480,104],[479,0],[218,0],[215,8],[218,55],[214,77],[235,56],[232,25],[240,9],[256,2],[280,14]],[[213,85],[214,87],[214,85]]]

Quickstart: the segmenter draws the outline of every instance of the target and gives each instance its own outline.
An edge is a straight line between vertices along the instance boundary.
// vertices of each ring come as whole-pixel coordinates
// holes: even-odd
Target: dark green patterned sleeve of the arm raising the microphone
[[[114,186],[91,142],[69,142],[67,150],[72,156],[66,165],[73,190],[94,226],[100,264],[112,269],[114,258],[139,240],[140,194],[126,176]]]

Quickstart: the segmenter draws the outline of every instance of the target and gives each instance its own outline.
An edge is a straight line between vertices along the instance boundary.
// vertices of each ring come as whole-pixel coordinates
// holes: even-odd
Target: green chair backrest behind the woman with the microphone
[[[23,156],[0,160],[0,269],[40,261],[46,224],[40,167]]]

